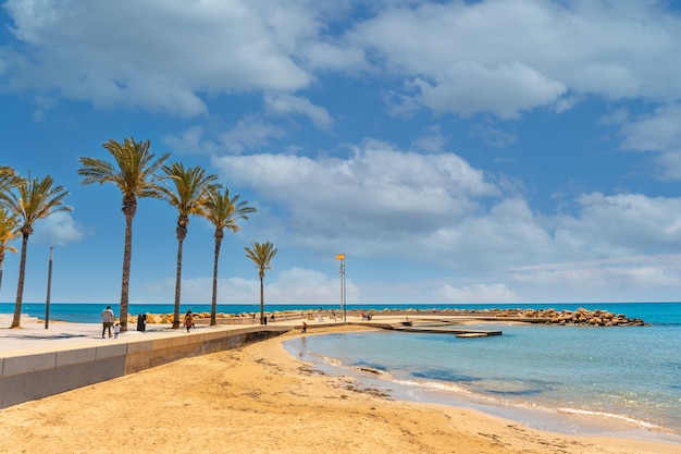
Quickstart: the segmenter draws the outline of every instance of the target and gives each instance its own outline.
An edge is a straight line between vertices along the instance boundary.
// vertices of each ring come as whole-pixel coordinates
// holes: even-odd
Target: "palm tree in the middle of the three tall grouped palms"
[[[187,168],[181,162],[173,162],[171,165],[163,165],[163,173],[166,181],[172,185],[161,186],[163,198],[177,209],[177,267],[175,273],[175,310],[173,317],[173,329],[179,328],[179,293],[182,280],[182,246],[187,236],[187,225],[189,225],[189,214],[201,214],[202,204],[207,200],[208,194],[218,180],[216,175],[207,175],[206,170],[200,167]]]

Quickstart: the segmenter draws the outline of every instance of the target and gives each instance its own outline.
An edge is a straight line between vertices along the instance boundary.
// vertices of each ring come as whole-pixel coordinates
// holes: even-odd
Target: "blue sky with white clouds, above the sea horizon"
[[[673,1],[10,0],[0,163],[50,174],[25,302],[117,303],[120,192],[78,157],[150,139],[258,208],[219,303],[679,300],[681,12]],[[172,303],[176,212],[144,199],[132,303]],[[191,219],[183,303],[210,303]],[[20,245],[18,243],[16,244]],[[18,255],[0,300],[13,302]]]

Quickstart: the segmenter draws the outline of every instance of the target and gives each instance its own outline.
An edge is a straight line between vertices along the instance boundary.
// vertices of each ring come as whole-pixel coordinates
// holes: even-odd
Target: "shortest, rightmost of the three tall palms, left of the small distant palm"
[[[237,224],[239,219],[248,220],[248,214],[256,212],[256,208],[249,207],[246,200],[239,200],[237,194],[230,198],[230,188],[225,187],[224,193],[215,187],[209,193],[209,197],[203,203],[202,216],[215,226],[215,258],[213,261],[213,297],[210,309],[210,324],[218,324],[215,320],[215,308],[218,306],[218,259],[220,257],[220,246],[224,238],[224,229],[238,232],[242,228]]]

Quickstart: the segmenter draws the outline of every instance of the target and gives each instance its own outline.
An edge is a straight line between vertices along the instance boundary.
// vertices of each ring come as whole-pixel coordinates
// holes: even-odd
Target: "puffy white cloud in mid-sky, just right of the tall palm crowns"
[[[403,152],[374,140],[347,159],[260,154],[213,163],[226,181],[284,207],[286,222],[301,236],[421,233],[474,209],[472,197],[497,192],[456,155]]]

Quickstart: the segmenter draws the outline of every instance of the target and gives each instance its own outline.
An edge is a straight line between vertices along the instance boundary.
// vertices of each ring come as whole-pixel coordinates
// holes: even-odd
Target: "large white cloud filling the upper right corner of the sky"
[[[420,3],[357,24],[347,40],[412,81],[414,99],[436,111],[510,118],[561,112],[574,95],[681,97],[681,20],[663,3]]]

